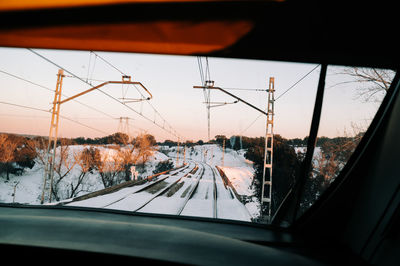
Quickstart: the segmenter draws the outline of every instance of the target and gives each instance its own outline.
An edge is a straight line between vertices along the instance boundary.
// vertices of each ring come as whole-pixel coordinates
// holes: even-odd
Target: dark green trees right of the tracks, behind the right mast
[[[352,137],[319,137],[316,146],[320,153],[312,162],[312,171],[307,178],[303,198],[301,199],[301,211],[310,207],[325,191],[331,182],[340,173],[351,154],[360,142],[363,133]],[[233,136],[227,138],[224,135],[215,136],[212,141],[221,147],[234,150],[245,149],[245,158],[253,162],[255,169],[253,185],[257,197],[261,197],[261,185],[264,171],[264,137]],[[273,146],[273,182],[272,182],[272,213],[275,213],[290,188],[295,184],[302,161],[308,137],[303,139],[286,139],[278,134],[274,135]],[[266,206],[264,206],[265,208]]]

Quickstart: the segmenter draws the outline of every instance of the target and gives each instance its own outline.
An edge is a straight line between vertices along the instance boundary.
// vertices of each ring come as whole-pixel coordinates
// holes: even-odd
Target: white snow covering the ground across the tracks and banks
[[[69,158],[73,159],[73,155],[82,151],[84,148],[90,146],[73,145],[69,147]],[[100,150],[100,154],[103,160],[112,161],[117,156],[117,151],[112,146],[95,146]],[[179,155],[179,164],[183,162],[183,147]],[[160,151],[155,151],[151,156],[145,171],[141,173],[142,176],[149,176],[153,173],[155,165],[160,161],[172,159],[172,162],[176,164],[176,149],[177,147],[160,147]],[[191,190],[194,188],[194,184],[198,184],[196,191],[190,201],[187,202],[187,206],[182,211],[182,215],[188,216],[201,216],[201,217],[213,217],[213,171],[216,173],[215,166],[219,166],[224,172],[227,178],[234,186],[236,192],[241,196],[246,196],[248,201],[245,205],[240,203],[238,199],[233,197],[233,193],[229,187],[225,187],[222,179],[216,173],[216,189],[218,194],[217,210],[218,218],[224,219],[235,219],[250,221],[250,218],[256,218],[259,215],[260,204],[258,199],[252,197],[254,191],[252,188],[253,181],[253,164],[244,158],[243,150],[234,151],[226,149],[223,154],[222,148],[215,144],[197,145],[186,149],[186,162],[190,165],[199,165],[203,173],[202,178],[197,179],[193,177],[190,179],[192,182],[188,182],[189,178],[182,184],[182,188],[171,197],[162,197],[155,199],[154,202],[147,204],[145,207],[138,211],[141,212],[152,212],[152,213],[167,213],[175,214],[179,206],[182,205],[184,197],[182,192]],[[71,159],[71,160],[72,160]],[[203,169],[204,168],[204,169]],[[214,170],[213,170],[214,169]],[[80,170],[77,166],[71,171],[71,174],[63,180],[67,189],[68,182],[74,182],[74,178],[79,174]],[[160,176],[162,178],[162,176]],[[214,177],[215,178],[215,177]],[[179,178],[176,177],[176,180]],[[175,181],[174,178],[168,179],[171,184]],[[4,180],[4,179],[3,179]],[[167,179],[166,179],[167,181]],[[182,181],[180,181],[182,182]],[[14,186],[17,184],[15,198],[13,196]],[[27,169],[21,176],[10,176],[10,180],[7,182],[0,182],[0,202],[19,202],[24,204],[40,204],[40,195],[43,186],[43,166],[36,163],[32,169]],[[83,191],[78,195],[84,195],[89,192],[103,189],[104,186],[100,180],[99,174],[96,170],[92,173],[88,173],[84,184]],[[90,198],[85,201],[70,202],[70,206],[88,206],[88,207],[99,207],[99,208],[111,208],[119,210],[133,211],[141,206],[141,203],[148,201],[154,195],[151,193],[135,193],[141,186],[134,186],[121,189],[115,193]],[[132,197],[135,197],[132,199]],[[123,198],[121,200],[121,198]],[[65,198],[63,198],[65,200]],[[132,202],[135,202],[133,204]],[[160,203],[161,204],[157,204]],[[133,204],[133,205],[132,205]],[[161,206],[161,207],[160,207]],[[167,206],[170,206],[167,208]],[[235,210],[235,211],[232,211]]]

